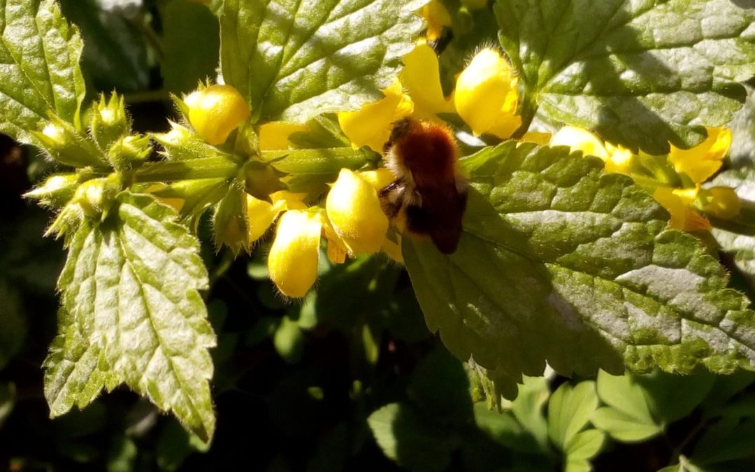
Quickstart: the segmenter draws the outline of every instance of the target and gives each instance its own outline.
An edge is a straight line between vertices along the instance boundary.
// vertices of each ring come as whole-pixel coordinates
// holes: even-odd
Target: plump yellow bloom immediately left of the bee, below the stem
[[[325,200],[328,219],[350,253],[380,251],[388,230],[377,191],[349,169],[341,169]]]

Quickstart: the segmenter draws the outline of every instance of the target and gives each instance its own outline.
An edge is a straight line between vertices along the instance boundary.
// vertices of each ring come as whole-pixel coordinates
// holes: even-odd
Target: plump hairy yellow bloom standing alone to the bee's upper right
[[[521,125],[515,114],[517,100],[516,77],[495,49],[479,51],[456,79],[456,112],[475,135],[509,137]]]

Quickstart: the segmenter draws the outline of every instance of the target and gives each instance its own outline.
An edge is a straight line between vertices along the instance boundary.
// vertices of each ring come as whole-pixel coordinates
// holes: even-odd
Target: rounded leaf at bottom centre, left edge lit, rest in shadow
[[[410,407],[391,403],[373,412],[367,422],[377,445],[388,458],[413,472],[445,470],[451,447]]]

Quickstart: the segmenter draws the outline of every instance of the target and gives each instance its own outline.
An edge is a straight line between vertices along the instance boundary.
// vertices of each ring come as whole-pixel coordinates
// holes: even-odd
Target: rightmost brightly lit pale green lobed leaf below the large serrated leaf
[[[596,409],[590,418],[599,429],[626,443],[643,441],[663,432],[653,418],[646,390],[632,375],[598,373],[598,395],[609,406]]]

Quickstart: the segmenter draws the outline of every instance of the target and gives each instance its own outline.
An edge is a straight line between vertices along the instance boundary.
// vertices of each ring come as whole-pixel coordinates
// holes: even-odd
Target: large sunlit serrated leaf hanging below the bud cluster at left
[[[199,242],[174,220],[153,197],[121,193],[109,218],[72,237],[58,280],[59,335],[45,360],[52,416],[125,383],[212,437],[215,336],[198,292],[207,273]]]

